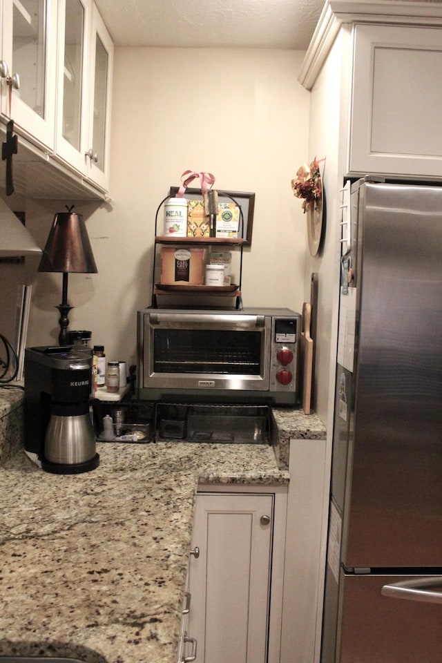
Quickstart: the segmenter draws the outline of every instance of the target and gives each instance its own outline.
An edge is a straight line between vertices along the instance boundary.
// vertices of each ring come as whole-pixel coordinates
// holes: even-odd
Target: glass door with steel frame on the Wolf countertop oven
[[[154,400],[269,390],[271,316],[155,311],[143,331],[142,388]]]

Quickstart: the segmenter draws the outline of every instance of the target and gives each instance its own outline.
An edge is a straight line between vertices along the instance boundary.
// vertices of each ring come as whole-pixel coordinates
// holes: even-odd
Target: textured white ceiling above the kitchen
[[[306,50],[324,0],[96,0],[115,46]]]

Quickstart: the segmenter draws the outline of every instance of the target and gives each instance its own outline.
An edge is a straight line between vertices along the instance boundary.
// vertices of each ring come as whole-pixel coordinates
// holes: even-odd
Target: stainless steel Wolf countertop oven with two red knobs
[[[294,405],[299,340],[290,309],[142,309],[138,396]]]

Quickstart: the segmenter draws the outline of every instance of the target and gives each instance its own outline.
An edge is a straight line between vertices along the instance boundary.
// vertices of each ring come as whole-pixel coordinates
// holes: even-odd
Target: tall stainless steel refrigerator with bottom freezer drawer
[[[441,663],[442,187],[359,180],[349,227],[321,662]]]

